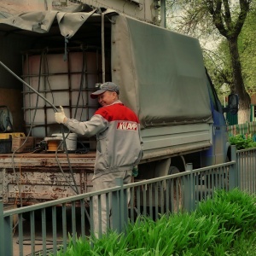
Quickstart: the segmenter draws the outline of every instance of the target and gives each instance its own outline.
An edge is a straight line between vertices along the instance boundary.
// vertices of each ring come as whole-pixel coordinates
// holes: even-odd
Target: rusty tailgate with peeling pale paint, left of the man
[[[0,154],[0,199],[20,204],[21,191],[25,206],[76,195],[76,188],[79,194],[90,192],[95,156],[68,154],[67,159],[67,154],[58,153],[56,160],[54,153],[25,153],[15,154],[13,160],[12,154]]]

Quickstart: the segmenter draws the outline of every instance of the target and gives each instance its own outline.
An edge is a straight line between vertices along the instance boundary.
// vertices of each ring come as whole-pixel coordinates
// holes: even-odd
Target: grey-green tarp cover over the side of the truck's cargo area
[[[199,41],[116,16],[112,77],[143,127],[208,122],[212,113]]]

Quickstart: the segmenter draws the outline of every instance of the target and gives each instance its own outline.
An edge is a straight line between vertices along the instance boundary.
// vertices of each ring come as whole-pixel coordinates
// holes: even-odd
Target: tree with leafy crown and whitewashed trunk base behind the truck
[[[201,42],[212,42],[207,45],[206,63],[211,67],[214,63],[213,76],[219,84],[226,84],[231,92],[239,95],[240,113],[243,114],[241,122],[247,121],[250,97],[241,72],[241,65],[245,66],[241,61],[238,37],[249,20],[247,16],[253,0],[167,0],[166,3],[171,29],[200,38]],[[211,54],[209,49],[215,53]],[[223,49],[224,53],[219,54],[217,49]]]

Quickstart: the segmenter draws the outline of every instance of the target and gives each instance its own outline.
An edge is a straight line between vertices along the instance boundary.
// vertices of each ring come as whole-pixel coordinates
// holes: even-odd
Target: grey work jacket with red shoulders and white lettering
[[[132,170],[143,157],[137,115],[120,101],[99,108],[89,121],[67,119],[64,125],[86,137],[96,135],[96,176]]]

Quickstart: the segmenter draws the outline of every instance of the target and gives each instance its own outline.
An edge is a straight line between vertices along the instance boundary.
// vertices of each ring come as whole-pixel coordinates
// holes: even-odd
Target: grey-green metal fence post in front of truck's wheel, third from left
[[[189,175],[184,176],[184,207],[190,212],[195,209],[195,178],[193,177],[193,165],[187,164],[186,171]]]

